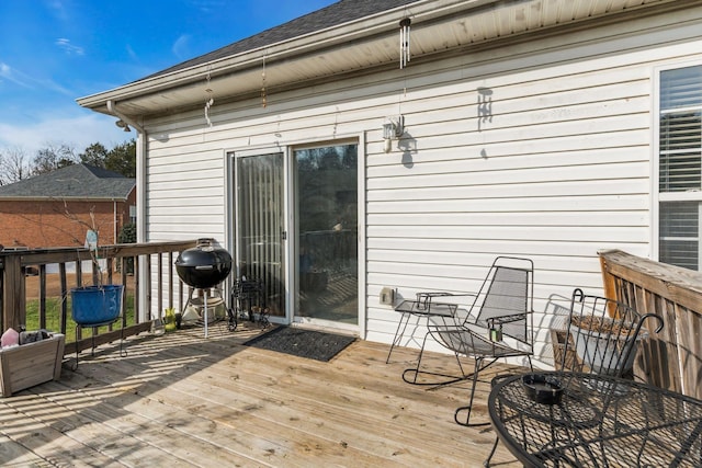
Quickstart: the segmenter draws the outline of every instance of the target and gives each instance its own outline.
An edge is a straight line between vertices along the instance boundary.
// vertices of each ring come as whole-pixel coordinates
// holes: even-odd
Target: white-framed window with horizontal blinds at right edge
[[[702,66],[660,72],[658,260],[700,269]]]

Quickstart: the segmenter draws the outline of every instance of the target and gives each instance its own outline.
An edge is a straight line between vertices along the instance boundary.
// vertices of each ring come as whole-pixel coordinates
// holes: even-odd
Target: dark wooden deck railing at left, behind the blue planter
[[[110,327],[106,331],[87,329],[91,330],[87,331],[87,338],[82,336],[80,329],[77,330],[76,341],[66,345],[66,354],[120,339],[123,333],[121,328],[124,329],[124,336],[149,330],[152,312],[173,307],[174,295],[180,297],[179,304],[183,304],[185,292],[182,282],[173,274],[173,262],[179,252],[195,244],[196,241],[192,240],[100,246],[98,256],[103,265],[101,269],[92,267],[94,254],[83,248],[0,251],[0,330],[10,327],[19,330],[20,326],[26,323],[26,281],[30,272],[38,276],[38,327],[46,328],[49,315],[58,315],[58,320],[50,317],[54,319],[52,322],[59,323],[59,330],[52,330],[55,332],[67,332],[67,299],[73,287],[100,282],[117,283],[125,285],[123,298],[133,297],[131,307],[134,313],[128,321],[124,313],[121,327]],[[56,273],[47,273],[47,266],[56,270]],[[47,307],[47,299],[50,299],[47,294],[48,275],[58,275],[60,282],[58,310]],[[129,286],[133,290],[129,290]]]

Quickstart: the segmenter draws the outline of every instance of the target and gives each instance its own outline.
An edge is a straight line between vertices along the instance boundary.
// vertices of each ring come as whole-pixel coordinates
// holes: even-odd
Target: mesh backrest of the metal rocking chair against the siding
[[[495,259],[474,301],[474,307],[480,305],[474,322],[484,328],[491,328],[499,323],[501,318],[531,312],[533,271],[533,262],[529,259]],[[509,321],[500,327],[502,334],[531,342],[526,317],[524,320]]]

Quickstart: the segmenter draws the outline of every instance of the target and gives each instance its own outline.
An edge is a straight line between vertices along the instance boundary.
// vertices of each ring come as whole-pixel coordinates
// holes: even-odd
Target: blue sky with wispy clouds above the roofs
[[[0,0],[0,151],[33,158],[135,137],[76,99],[116,88],[336,0]]]

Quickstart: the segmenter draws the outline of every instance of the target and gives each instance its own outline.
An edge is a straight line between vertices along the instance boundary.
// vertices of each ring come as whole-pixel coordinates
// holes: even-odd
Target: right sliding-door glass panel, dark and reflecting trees
[[[298,318],[358,324],[358,146],[294,151]]]

